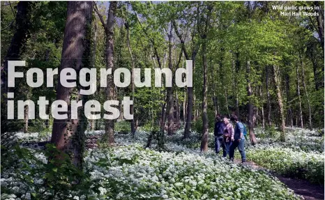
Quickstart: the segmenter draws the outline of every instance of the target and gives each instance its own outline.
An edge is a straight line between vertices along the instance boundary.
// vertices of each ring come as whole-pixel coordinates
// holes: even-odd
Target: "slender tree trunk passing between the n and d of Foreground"
[[[170,32],[168,34],[168,68],[173,71],[172,64],[172,23],[170,23]],[[174,134],[174,97],[173,97],[173,88],[167,87],[167,114],[168,114],[168,135]]]

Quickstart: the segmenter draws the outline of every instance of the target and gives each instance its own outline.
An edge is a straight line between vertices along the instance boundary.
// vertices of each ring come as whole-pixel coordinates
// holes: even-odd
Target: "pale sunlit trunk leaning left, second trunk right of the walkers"
[[[274,83],[275,83],[275,91],[278,96],[278,106],[280,112],[280,123],[281,123],[281,133],[280,133],[280,140],[285,141],[285,114],[283,112],[283,104],[282,104],[282,95],[280,90],[280,70],[273,65],[273,72],[274,72]]]

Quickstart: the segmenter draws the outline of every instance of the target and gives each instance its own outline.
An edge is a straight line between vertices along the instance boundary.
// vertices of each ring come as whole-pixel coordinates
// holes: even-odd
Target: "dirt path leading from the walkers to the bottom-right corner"
[[[234,160],[236,164],[241,164],[241,160]],[[245,166],[249,166],[252,169],[264,169],[260,167],[255,162],[248,161]],[[287,187],[294,190],[294,193],[303,196],[305,200],[323,200],[324,199],[324,185],[316,185],[310,183],[308,180],[301,180],[298,178],[288,178],[285,176],[280,176],[278,174],[273,174],[282,183],[285,183]]]

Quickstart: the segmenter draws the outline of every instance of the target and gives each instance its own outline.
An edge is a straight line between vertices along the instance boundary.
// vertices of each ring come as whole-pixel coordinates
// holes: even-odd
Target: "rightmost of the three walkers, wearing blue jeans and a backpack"
[[[229,150],[229,160],[234,161],[235,148],[238,147],[239,153],[241,153],[241,162],[246,162],[245,137],[244,137],[245,127],[243,123],[239,122],[239,119],[236,115],[232,116],[230,120],[234,121],[236,126],[234,129],[234,137],[232,137],[232,145],[230,146],[230,150]]]

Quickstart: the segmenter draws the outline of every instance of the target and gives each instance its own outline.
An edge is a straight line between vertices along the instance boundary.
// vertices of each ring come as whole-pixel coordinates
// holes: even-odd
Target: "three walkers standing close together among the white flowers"
[[[232,116],[229,120],[227,117],[222,117],[218,114],[214,128],[216,153],[220,152],[222,147],[223,157],[229,155],[229,160],[234,160],[234,151],[236,148],[241,153],[241,161],[246,162],[245,155],[245,126],[241,123],[237,116]],[[230,123],[235,124],[235,128]]]

